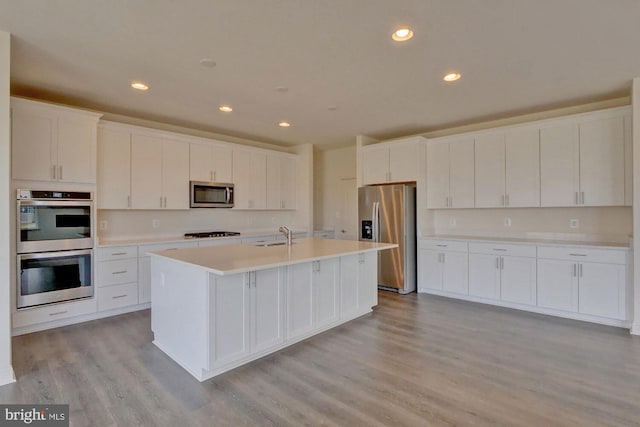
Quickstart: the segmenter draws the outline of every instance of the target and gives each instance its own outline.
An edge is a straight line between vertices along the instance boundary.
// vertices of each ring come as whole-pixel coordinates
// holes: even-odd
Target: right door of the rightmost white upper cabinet
[[[624,205],[622,117],[580,124],[580,191],[585,206]]]

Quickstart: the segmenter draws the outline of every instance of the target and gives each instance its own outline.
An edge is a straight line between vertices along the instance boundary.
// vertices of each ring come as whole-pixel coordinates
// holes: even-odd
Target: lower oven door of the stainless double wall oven
[[[92,250],[18,255],[18,308],[93,296]]]

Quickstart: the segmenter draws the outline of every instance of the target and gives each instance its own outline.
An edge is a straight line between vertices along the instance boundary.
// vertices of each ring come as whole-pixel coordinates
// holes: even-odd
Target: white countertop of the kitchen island
[[[191,264],[211,273],[227,275],[396,247],[398,245],[395,243],[305,238],[294,239],[292,246],[261,247],[244,243],[150,252],[149,255]]]

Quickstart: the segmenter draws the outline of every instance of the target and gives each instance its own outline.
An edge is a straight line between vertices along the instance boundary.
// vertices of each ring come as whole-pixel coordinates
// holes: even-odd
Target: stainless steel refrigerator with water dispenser
[[[416,290],[416,186],[393,184],[358,189],[359,239],[397,243],[378,252],[378,287]]]

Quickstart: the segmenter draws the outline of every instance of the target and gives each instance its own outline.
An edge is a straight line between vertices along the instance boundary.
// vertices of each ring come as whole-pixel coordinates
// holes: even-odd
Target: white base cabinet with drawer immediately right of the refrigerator
[[[469,293],[469,255],[466,242],[421,240],[418,291]]]

